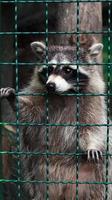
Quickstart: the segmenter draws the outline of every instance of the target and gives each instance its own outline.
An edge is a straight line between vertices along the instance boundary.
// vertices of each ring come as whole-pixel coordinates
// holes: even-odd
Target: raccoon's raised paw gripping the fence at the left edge
[[[0,89],[0,98],[8,98],[15,96],[15,89],[7,87]]]

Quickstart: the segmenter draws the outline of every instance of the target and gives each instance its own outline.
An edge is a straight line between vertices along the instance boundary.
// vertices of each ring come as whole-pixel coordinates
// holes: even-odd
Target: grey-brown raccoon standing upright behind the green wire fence
[[[100,125],[106,124],[106,106],[98,94],[105,84],[95,64],[103,45],[80,47],[78,53],[74,46],[49,46],[46,52],[38,41],[31,48],[40,65],[18,96],[26,199],[104,200],[106,127]],[[15,112],[15,90],[1,88],[0,96]]]

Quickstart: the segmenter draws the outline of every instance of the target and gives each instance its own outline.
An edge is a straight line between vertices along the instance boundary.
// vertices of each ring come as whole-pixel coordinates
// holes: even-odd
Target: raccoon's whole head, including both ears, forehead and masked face
[[[44,62],[45,45],[41,42],[33,42],[31,47],[36,54],[41,55],[40,61]],[[92,63],[102,48],[103,45],[98,43],[92,45],[88,53],[84,49],[80,49],[78,55],[79,63]],[[48,60],[48,65],[42,65],[38,73],[41,82],[46,84],[49,92],[76,92],[77,90],[83,90],[88,85],[93,67],[76,65],[75,48],[71,46],[51,46],[48,49]]]

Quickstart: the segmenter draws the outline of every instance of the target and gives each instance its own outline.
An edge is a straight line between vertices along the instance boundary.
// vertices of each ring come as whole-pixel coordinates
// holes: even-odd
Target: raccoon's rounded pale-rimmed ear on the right
[[[103,49],[103,44],[101,43],[96,43],[93,44],[90,48],[89,48],[89,54],[91,56],[96,57],[97,55],[99,55],[102,52]]]

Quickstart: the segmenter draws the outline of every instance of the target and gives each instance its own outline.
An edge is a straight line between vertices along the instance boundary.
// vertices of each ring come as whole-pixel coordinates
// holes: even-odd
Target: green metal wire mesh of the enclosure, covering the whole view
[[[108,4],[108,28],[107,30],[103,30],[103,31],[81,31],[80,30],[80,26],[79,26],[79,14],[80,14],[80,9],[79,9],[79,5],[81,2],[87,2],[90,3],[91,2],[91,6],[93,2],[105,2]],[[17,185],[17,190],[16,190],[16,198],[15,199],[23,199],[23,194],[22,194],[22,185],[27,184],[27,183],[33,183],[33,184],[45,184],[46,185],[46,194],[45,194],[45,199],[50,199],[49,198],[49,185],[50,184],[75,184],[76,185],[76,199],[79,199],[79,185],[80,184],[103,184],[105,186],[105,200],[108,199],[108,185],[112,184],[112,182],[109,182],[109,172],[108,172],[108,168],[109,168],[109,156],[111,155],[110,150],[109,150],[109,135],[110,135],[110,127],[112,126],[111,120],[110,120],[110,105],[111,105],[111,96],[112,96],[112,92],[111,92],[111,81],[112,81],[112,74],[111,74],[111,65],[112,65],[112,57],[111,57],[111,34],[112,34],[112,29],[111,29],[111,7],[112,7],[112,1],[104,1],[104,0],[80,0],[80,1],[75,1],[75,0],[0,0],[0,4],[7,4],[7,3],[12,3],[14,5],[14,31],[1,31],[0,32],[0,36],[1,36],[1,40],[2,40],[2,36],[12,36],[14,37],[14,46],[15,46],[15,60],[12,62],[8,62],[7,59],[4,61],[0,61],[0,66],[1,67],[7,67],[9,65],[15,67],[15,74],[16,74],[16,121],[12,121],[12,122],[6,122],[6,121],[2,121],[0,122],[0,126],[3,127],[5,125],[12,125],[12,126],[16,126],[16,149],[15,150],[4,150],[1,148],[0,150],[0,155],[1,158],[4,155],[11,155],[11,156],[15,156],[16,157],[16,178],[12,178],[12,179],[7,179],[5,177],[3,177],[3,160],[1,159],[1,177],[0,177],[0,183],[2,183],[2,186],[0,187],[0,199],[5,199],[4,197],[4,183],[15,183]],[[41,31],[41,32],[26,32],[26,31],[18,31],[18,5],[22,3],[22,4],[30,4],[30,3],[34,3],[38,5],[38,3],[43,3],[45,5],[45,31]],[[49,17],[49,12],[48,12],[48,5],[50,3],[74,3],[77,4],[77,27],[76,27],[76,31],[72,31],[72,32],[54,32],[54,31],[49,31],[48,30],[48,17]],[[2,29],[1,29],[2,30]],[[105,93],[101,93],[101,94],[97,94],[97,93],[80,93],[79,92],[79,76],[77,76],[77,94],[66,94],[67,96],[76,96],[76,101],[77,101],[77,113],[76,113],[76,122],[75,123],[50,123],[49,122],[49,101],[48,101],[48,96],[46,93],[33,93],[33,94],[19,94],[19,66],[35,66],[35,65],[39,65],[40,63],[37,62],[19,62],[18,60],[18,36],[20,35],[34,35],[34,36],[39,36],[39,35],[44,35],[45,36],[45,43],[46,43],[46,60],[45,60],[45,65],[48,65],[48,43],[49,43],[49,35],[53,36],[53,35],[71,35],[71,34],[76,34],[77,35],[77,61],[76,63],[71,63],[73,65],[77,66],[77,72],[79,71],[79,64],[83,65],[84,63],[79,63],[79,48],[80,48],[80,41],[79,41],[79,35],[80,34],[102,34],[102,35],[106,35],[107,37],[107,57],[106,59],[104,59],[103,61],[103,66],[105,69],[105,76],[106,76],[106,81],[107,81],[107,92]],[[0,48],[1,49],[1,48]],[[91,65],[91,64],[87,64],[86,65]],[[99,67],[100,63],[97,63],[97,66]],[[6,68],[7,69],[7,68]],[[46,98],[46,122],[45,123],[37,123],[37,122],[24,122],[21,123],[19,122],[19,103],[18,103],[18,97],[19,96],[28,96],[28,95],[32,95],[32,96],[45,96]],[[65,94],[62,94],[62,96]],[[105,96],[106,97],[106,102],[107,102],[107,123],[106,124],[81,124],[79,123],[79,112],[80,112],[80,97],[81,96]],[[74,113],[75,115],[75,113]],[[45,126],[45,132],[46,132],[46,152],[23,152],[21,151],[21,144],[20,144],[20,137],[21,137],[21,133],[20,133],[20,126]],[[64,152],[59,152],[59,153],[55,153],[55,152],[50,152],[49,151],[49,127],[56,127],[56,126],[76,126],[76,135],[77,135],[77,149],[76,152],[73,153],[64,153]],[[106,153],[103,155],[106,157],[106,165],[105,165],[105,181],[102,182],[88,182],[88,181],[79,181],[79,157],[81,155],[83,155],[84,153],[79,152],[79,132],[80,132],[80,127],[93,127],[93,126],[105,126],[107,127],[107,141],[106,141]],[[2,141],[2,136],[1,136],[1,141]],[[2,146],[2,145],[1,145]],[[21,157],[23,155],[34,155],[34,156],[42,156],[45,155],[46,156],[46,180],[24,180],[22,179],[22,169],[21,169]],[[49,157],[50,156],[76,156],[76,160],[77,160],[77,164],[76,164],[76,180],[50,180],[49,179]],[[10,158],[11,159],[11,158]],[[8,191],[7,191],[8,192]],[[11,198],[11,193],[8,194]],[[71,197],[72,199],[72,197]]]

